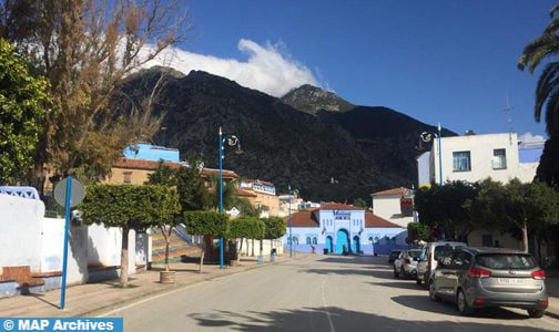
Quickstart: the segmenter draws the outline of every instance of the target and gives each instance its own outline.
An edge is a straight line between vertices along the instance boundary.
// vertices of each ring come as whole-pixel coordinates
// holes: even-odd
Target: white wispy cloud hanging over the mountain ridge
[[[241,39],[237,46],[248,55],[246,61],[167,49],[145,66],[165,65],[184,74],[192,70],[205,71],[273,96],[283,96],[303,84],[318,85],[311,70],[293,60],[282,42],[260,45],[252,40]]]

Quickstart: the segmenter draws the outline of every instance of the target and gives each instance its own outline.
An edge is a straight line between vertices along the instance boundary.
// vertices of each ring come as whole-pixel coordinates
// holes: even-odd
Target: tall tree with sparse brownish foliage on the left
[[[143,101],[112,104],[126,77],[190,30],[176,1],[21,0],[0,4],[0,37],[50,82],[53,107],[42,122],[33,185],[47,169],[104,177],[129,144],[150,138],[163,75]],[[118,112],[115,110],[119,110]]]

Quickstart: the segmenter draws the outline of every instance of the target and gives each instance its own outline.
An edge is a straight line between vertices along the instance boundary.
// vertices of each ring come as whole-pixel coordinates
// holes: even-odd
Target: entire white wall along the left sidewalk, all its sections
[[[40,200],[0,194],[1,267],[30,266],[33,272],[62,270],[64,219],[44,218]],[[135,272],[135,231],[129,234],[129,272]],[[120,266],[122,232],[99,225],[70,227],[68,283],[88,280],[88,266]]]

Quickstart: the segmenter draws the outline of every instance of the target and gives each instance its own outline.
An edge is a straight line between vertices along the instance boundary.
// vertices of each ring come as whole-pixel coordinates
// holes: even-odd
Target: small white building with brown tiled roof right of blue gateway
[[[414,221],[413,190],[394,188],[372,194],[373,212],[400,227]]]

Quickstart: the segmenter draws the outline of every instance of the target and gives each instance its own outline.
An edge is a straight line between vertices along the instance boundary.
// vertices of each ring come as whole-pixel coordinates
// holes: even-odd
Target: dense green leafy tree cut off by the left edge
[[[32,166],[41,125],[49,112],[48,82],[0,39],[0,185],[22,180]]]

